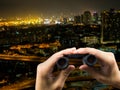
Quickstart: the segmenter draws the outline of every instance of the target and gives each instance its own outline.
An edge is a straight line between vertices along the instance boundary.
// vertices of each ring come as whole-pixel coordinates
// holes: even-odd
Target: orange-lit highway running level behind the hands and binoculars
[[[0,54],[0,60],[11,60],[11,61],[27,61],[27,62],[44,62],[49,57],[39,57],[39,56],[22,56],[22,55],[4,55]],[[118,60],[120,61],[120,60]],[[117,62],[120,67],[120,62]],[[82,60],[79,59],[70,59],[69,64],[80,66],[83,64]],[[96,65],[99,66],[99,65]]]

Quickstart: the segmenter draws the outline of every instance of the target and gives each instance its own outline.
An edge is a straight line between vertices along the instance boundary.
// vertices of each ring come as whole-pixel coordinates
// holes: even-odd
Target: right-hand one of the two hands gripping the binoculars
[[[114,54],[104,52],[94,48],[79,48],[76,54],[92,54],[95,55],[100,64],[100,70],[89,67],[85,64],[79,67],[80,70],[87,71],[97,81],[120,88],[120,70],[115,60]]]

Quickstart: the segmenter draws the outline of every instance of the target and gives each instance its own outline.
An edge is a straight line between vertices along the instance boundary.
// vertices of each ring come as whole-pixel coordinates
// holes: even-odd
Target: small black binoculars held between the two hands
[[[82,59],[83,64],[86,64],[90,67],[94,66],[97,62],[97,58],[91,54],[70,54],[59,58],[59,60],[56,62],[56,67],[61,70],[66,69],[69,65],[69,59],[71,58]]]

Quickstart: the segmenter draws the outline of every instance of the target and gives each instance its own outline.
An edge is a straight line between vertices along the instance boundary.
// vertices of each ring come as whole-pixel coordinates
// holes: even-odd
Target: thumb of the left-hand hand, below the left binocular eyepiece
[[[67,79],[67,77],[69,76],[69,74],[75,69],[75,67],[73,65],[69,65],[67,69],[62,70],[60,72],[60,75],[58,76],[57,80],[56,80],[56,84],[59,86],[64,86],[64,83]],[[63,85],[61,85],[63,84]]]

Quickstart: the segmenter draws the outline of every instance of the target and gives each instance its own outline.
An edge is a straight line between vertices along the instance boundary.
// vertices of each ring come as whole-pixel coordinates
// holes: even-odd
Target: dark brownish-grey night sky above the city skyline
[[[86,10],[101,12],[110,8],[120,9],[120,0],[0,0],[0,16],[31,13],[70,15],[81,14]]]

